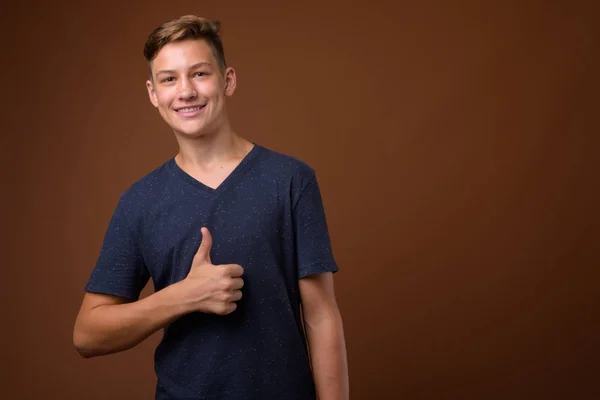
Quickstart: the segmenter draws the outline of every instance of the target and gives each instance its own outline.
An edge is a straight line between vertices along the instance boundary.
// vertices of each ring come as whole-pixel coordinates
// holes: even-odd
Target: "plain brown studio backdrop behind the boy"
[[[142,46],[187,13],[223,21],[237,131],[317,171],[352,398],[600,398],[600,14],[481,3],[7,5],[2,398],[153,396],[159,334],[71,334],[119,194],[176,151]]]

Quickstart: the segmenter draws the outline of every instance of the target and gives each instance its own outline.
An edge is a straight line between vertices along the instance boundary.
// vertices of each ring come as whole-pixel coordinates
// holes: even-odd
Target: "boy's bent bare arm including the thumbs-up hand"
[[[79,353],[93,357],[130,349],[189,312],[233,312],[242,296],[244,270],[237,264],[212,264],[211,247],[212,236],[203,228],[187,277],[142,300],[86,293],[73,330]]]

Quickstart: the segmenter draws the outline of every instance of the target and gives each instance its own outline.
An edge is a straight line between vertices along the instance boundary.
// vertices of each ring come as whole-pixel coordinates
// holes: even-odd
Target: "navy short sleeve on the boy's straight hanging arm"
[[[317,178],[303,188],[293,210],[298,279],[322,272],[337,272]]]

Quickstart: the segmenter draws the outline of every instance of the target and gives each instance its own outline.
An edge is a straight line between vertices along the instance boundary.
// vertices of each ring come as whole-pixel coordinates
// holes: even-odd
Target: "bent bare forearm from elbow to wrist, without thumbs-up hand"
[[[74,341],[83,357],[130,349],[186,313],[170,286],[144,299],[95,307],[78,318]]]

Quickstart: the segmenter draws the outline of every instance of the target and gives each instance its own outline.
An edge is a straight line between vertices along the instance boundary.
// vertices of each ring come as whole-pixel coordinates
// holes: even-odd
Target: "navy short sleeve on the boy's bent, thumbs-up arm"
[[[122,195],[104,236],[100,255],[86,292],[110,294],[137,300],[150,278],[143,262],[138,238],[129,223],[131,201]]]

